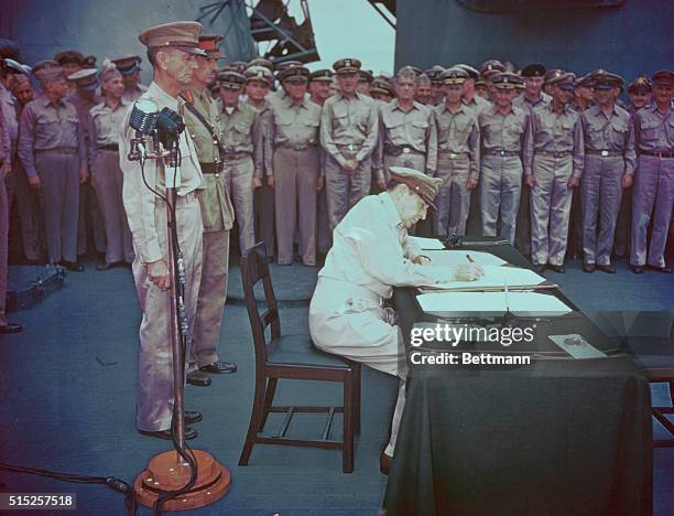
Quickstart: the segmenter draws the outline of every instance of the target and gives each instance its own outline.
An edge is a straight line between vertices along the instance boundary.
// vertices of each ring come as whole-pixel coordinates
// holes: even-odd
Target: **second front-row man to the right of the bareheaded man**
[[[514,243],[517,216],[522,190],[522,146],[529,127],[529,116],[513,106],[520,76],[510,72],[496,74],[494,104],[478,116],[481,133],[480,208],[482,234],[500,234]]]

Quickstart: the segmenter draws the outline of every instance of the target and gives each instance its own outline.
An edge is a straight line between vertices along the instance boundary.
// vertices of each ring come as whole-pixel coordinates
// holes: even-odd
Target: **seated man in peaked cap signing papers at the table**
[[[406,229],[426,216],[442,180],[423,171],[391,169],[387,191],[354,206],[334,232],[335,243],[309,304],[314,344],[400,378],[391,438],[380,458],[388,473],[405,404],[405,361],[402,333],[392,309],[381,309],[396,286],[431,286],[472,281],[482,269],[474,264],[427,267]]]

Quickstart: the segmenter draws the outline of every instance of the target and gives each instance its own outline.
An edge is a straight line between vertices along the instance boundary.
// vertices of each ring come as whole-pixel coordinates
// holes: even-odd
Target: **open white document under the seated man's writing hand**
[[[470,255],[472,257],[472,255]],[[466,252],[464,252],[464,264]],[[428,267],[428,266],[426,266]],[[421,292],[434,292],[437,290],[452,290],[454,292],[476,292],[476,291],[501,291],[501,290],[544,290],[555,288],[541,275],[530,269],[519,267],[483,266],[485,276],[476,281],[447,281],[428,287],[420,287]]]

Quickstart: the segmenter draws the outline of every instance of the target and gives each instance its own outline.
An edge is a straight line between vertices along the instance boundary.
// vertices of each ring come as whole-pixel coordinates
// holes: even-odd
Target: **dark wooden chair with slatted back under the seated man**
[[[272,287],[264,243],[257,244],[241,258],[241,279],[248,318],[253,334],[256,352],[256,391],[246,443],[239,465],[247,465],[254,444],[284,444],[341,450],[341,467],[354,471],[354,434],[360,432],[360,364],[318,351],[309,335],[281,335],[276,298]],[[256,284],[262,281],[267,310],[260,314],[254,297]],[[271,338],[264,335],[271,326]],[[341,407],[275,406],[274,393],[279,379],[339,381],[344,385]],[[270,412],[285,412],[285,418],[273,437],[261,432]],[[320,439],[290,439],[285,434],[295,413],[326,412]],[[344,413],[341,441],[329,439],[335,412]]]

